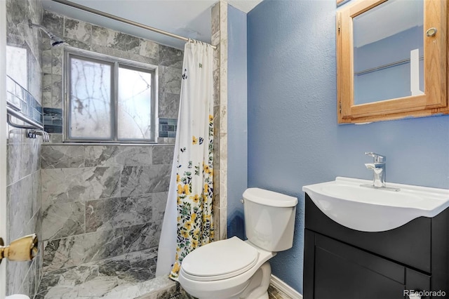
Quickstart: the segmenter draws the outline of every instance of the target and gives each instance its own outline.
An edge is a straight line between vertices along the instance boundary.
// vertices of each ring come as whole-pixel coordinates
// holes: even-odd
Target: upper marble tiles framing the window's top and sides
[[[159,69],[158,117],[171,119],[170,121],[176,123],[184,58],[182,50],[88,22],[74,20],[51,11],[44,11],[43,25],[53,34],[63,38],[67,46],[157,65]],[[46,39],[42,52],[43,107],[64,108],[62,98],[63,57],[63,47],[52,48]],[[62,113],[62,115],[64,114]],[[51,126],[52,130],[55,128],[53,123],[48,126]],[[170,130],[164,132],[167,133],[167,131]],[[55,133],[51,133],[52,142],[62,142],[60,127],[53,132]],[[170,134],[161,136],[158,143],[174,144],[174,133],[170,132]]]

